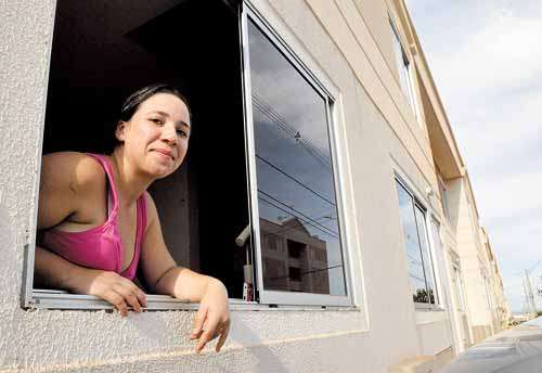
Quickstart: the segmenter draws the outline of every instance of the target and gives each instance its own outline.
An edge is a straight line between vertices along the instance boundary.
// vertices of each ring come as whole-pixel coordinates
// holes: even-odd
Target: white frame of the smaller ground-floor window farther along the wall
[[[443,311],[444,310],[444,299],[442,298],[443,296],[443,288],[442,288],[442,283],[440,281],[440,271],[439,267],[437,263],[438,257],[435,248],[435,244],[433,242],[433,227],[430,223],[430,219],[435,219],[434,217],[437,216],[436,211],[430,207],[430,204],[422,196],[422,193],[414,186],[414,183],[412,183],[408,177],[405,177],[402,172],[399,171],[398,167],[395,168],[393,170],[393,190],[396,190],[396,182],[399,182],[405,190],[406,192],[412,196],[414,200],[414,205],[420,205],[422,206],[423,209],[425,209],[425,229],[426,229],[426,234],[427,236],[427,244],[428,244],[428,252],[431,260],[431,268],[433,268],[433,273],[435,275],[435,292],[436,292],[436,300],[438,299],[438,303],[436,301],[435,304],[426,304],[426,303],[414,303],[415,309],[416,310],[430,310],[430,311]],[[397,191],[396,191],[397,193]],[[439,224],[440,222],[435,219]],[[402,223],[399,221],[401,224],[401,237],[403,237],[403,231],[402,231]],[[404,240],[404,237],[403,237]],[[404,243],[402,245],[402,250],[404,252]],[[409,284],[410,284],[410,279],[409,279]]]

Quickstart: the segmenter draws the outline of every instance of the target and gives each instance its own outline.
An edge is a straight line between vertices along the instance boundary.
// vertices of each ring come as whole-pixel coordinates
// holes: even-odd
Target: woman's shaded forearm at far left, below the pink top
[[[39,246],[36,246],[34,262],[35,278],[41,285],[80,293],[74,280],[85,268]]]

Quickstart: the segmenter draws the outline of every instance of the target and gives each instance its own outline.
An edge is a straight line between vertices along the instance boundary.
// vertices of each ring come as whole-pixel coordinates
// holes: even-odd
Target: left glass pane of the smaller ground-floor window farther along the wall
[[[428,303],[424,263],[422,253],[420,252],[420,240],[414,217],[414,203],[412,196],[399,182],[397,182],[397,192],[399,196],[399,213],[403,226],[404,249],[409,262],[412,296],[416,303]]]

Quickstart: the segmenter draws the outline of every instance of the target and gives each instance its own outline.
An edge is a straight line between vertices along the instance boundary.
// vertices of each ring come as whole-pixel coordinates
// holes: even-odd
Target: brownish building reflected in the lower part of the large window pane
[[[330,294],[326,242],[299,219],[260,219],[260,237],[266,288]]]

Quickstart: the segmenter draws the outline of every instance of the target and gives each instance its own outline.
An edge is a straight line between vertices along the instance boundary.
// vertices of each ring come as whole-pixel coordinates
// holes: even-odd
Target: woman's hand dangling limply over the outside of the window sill
[[[229,333],[228,291],[220,281],[209,278],[194,318],[194,330],[190,334],[190,339],[199,339],[196,345],[196,352],[199,353],[208,342],[220,336],[215,348],[219,352]]]

